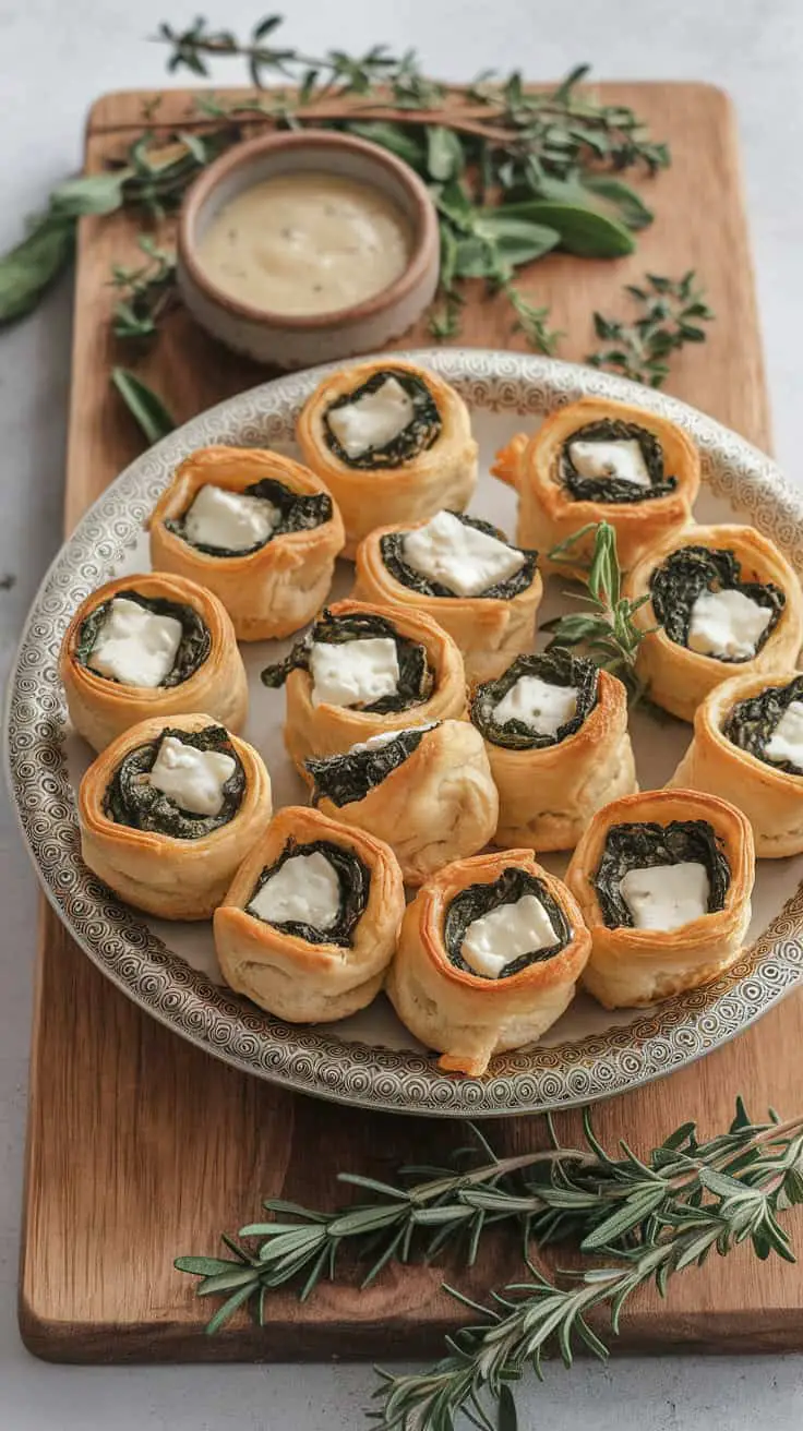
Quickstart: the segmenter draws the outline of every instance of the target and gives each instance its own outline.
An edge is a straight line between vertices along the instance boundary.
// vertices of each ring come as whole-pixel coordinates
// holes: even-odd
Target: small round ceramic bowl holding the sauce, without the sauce
[[[356,179],[395,200],[412,235],[404,273],[365,302],[322,315],[272,313],[230,298],[199,263],[200,238],[223,205],[243,189],[273,175],[303,170]],[[266,135],[236,145],[189,190],[179,222],[177,279],[193,318],[236,352],[279,368],[351,358],[398,338],[432,301],[438,285],[435,206],[412,169],[365,139],[328,130]]]

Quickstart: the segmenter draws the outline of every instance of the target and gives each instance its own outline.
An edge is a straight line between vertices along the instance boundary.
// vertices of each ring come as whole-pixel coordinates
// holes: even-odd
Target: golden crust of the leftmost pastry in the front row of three
[[[368,903],[351,947],[312,944],[249,914],[256,881],[288,840],[329,840],[352,850],[371,871]],[[364,1009],[382,987],[404,914],[404,884],[394,851],[365,830],[319,810],[286,806],[240,864],[215,910],[215,947],[226,983],[291,1023],[328,1023]]]

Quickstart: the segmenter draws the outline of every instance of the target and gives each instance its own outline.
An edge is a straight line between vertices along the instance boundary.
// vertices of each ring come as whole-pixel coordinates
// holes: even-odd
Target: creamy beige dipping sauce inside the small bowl
[[[409,223],[372,185],[328,173],[276,175],[243,189],[198,245],[230,298],[272,313],[332,313],[394,283],[412,248]]]

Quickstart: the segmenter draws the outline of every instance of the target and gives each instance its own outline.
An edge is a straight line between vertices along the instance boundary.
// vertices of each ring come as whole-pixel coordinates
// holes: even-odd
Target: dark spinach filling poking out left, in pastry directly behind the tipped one
[[[435,673],[427,660],[427,648],[418,641],[411,641],[407,635],[399,635],[392,621],[386,617],[376,617],[369,612],[352,612],[351,615],[335,615],[328,608],[306,633],[302,641],[296,641],[289,655],[275,665],[266,665],[262,671],[262,683],[271,690],[283,685],[291,671],[309,671],[309,658],[315,644],[348,645],[349,641],[365,641],[371,637],[388,637],[395,643],[396,660],[399,663],[399,678],[396,690],[391,695],[382,695],[371,705],[349,707],[349,710],[374,711],[385,716],[389,711],[405,711],[411,705],[421,705],[428,701],[435,685]]]

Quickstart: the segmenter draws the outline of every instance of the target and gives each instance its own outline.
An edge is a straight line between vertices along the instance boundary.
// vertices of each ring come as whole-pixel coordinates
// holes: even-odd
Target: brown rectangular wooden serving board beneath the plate
[[[621,309],[621,285],[644,270],[703,276],[717,321],[710,341],[684,352],[671,391],[769,445],[753,276],[733,113],[701,84],[604,86],[634,104],[674,165],[646,182],[657,222],[638,253],[615,263],[553,256],[530,275],[568,338],[563,355],[593,346],[591,312]],[[150,94],[112,94],[93,109],[87,162],[97,167],[142,126]],[[172,92],[159,120],[186,123],[190,99]],[[76,292],[66,528],[139,451],[139,438],[109,389],[113,362],[130,362],[109,332],[113,259],[133,256],[126,218],[83,220]],[[405,346],[425,343],[424,325]],[[477,290],[462,341],[520,346],[504,305]],[[183,421],[261,381],[175,315],[140,371]],[[707,1130],[730,1120],[743,1093],[756,1116],[767,1105],[799,1109],[803,995],[793,995],[739,1040],[671,1078],[600,1105],[597,1130],[651,1146],[687,1118]],[[571,1139],[575,1115],[558,1119]],[[485,1129],[502,1152],[540,1136],[537,1119]],[[341,1169],[386,1178],[399,1163],[438,1161],[465,1130],[442,1122],[371,1115],[295,1096],[215,1062],[140,1013],[70,943],[43,907],[31,1050],[20,1327],[26,1345],[57,1361],[252,1359],[434,1355],[459,1319],[438,1269],[388,1271],[368,1292],[321,1289],[303,1305],[292,1292],[268,1299],[265,1329],[243,1315],[218,1338],[202,1334],[209,1307],[173,1271],[177,1254],[218,1251],[222,1229],[253,1221],[262,1196],[329,1206]],[[565,1262],[565,1254],[561,1256]],[[459,1284],[482,1299],[491,1282],[518,1272],[517,1249],[497,1242]],[[452,1269],[451,1275],[458,1279]],[[667,1302],[647,1294],[624,1319],[630,1347],[756,1351],[803,1345],[803,1272],[749,1252],[713,1259],[673,1284]]]

